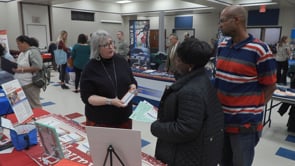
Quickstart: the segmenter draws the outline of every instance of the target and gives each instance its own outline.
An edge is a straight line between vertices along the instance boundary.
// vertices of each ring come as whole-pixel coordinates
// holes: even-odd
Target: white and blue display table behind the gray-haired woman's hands
[[[138,94],[132,100],[134,104],[146,100],[158,107],[166,86],[171,85],[175,79],[172,75],[154,70],[132,69],[138,84]]]

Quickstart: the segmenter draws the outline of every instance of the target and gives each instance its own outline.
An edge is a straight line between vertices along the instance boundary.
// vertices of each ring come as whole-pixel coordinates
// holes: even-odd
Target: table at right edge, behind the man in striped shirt
[[[289,91],[289,93],[288,93],[288,90],[290,89],[280,88],[273,93],[270,101],[265,105],[265,111],[263,116],[263,126],[268,124],[268,127],[270,127],[271,111],[273,108],[281,105],[282,103],[295,104],[295,96],[293,96],[294,90]],[[277,101],[277,102],[274,103],[274,101]]]

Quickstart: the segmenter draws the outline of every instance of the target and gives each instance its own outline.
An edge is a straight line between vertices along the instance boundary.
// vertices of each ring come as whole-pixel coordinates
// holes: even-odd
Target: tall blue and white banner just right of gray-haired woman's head
[[[130,20],[130,60],[132,65],[149,67],[150,44],[149,44],[149,20]]]

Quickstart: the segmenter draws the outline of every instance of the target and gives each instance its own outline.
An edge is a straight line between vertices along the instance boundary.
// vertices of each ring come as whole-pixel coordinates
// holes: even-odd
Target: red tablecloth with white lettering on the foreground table
[[[52,123],[56,123],[59,129],[68,131],[69,133],[78,133],[81,140],[74,143],[67,143],[66,150],[68,152],[67,158],[73,162],[80,163],[83,165],[93,165],[91,156],[83,150],[83,143],[88,142],[86,132],[84,128],[77,123],[63,117],[61,115],[49,114],[45,110],[34,109],[34,117],[37,122],[48,122],[48,120],[53,120]],[[52,118],[52,119],[51,119]],[[13,115],[8,116],[8,119],[16,122],[16,118]],[[48,124],[49,125],[49,124]],[[66,132],[68,134],[68,132]],[[82,146],[81,146],[82,145]],[[85,148],[85,147],[84,147]],[[14,150],[10,154],[0,154],[0,165],[1,166],[11,166],[11,165],[22,165],[22,166],[45,166],[48,165],[44,163],[41,157],[44,154],[42,146],[40,146],[40,141],[38,145],[30,147],[29,150],[16,151]],[[147,166],[164,166],[165,164],[156,160],[152,156],[142,153],[142,161]]]

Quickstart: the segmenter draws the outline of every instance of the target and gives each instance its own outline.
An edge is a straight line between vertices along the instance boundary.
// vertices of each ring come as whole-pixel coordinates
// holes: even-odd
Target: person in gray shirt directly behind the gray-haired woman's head
[[[116,53],[123,56],[126,61],[129,61],[129,46],[124,41],[124,33],[122,31],[117,32],[118,44],[116,45]]]

